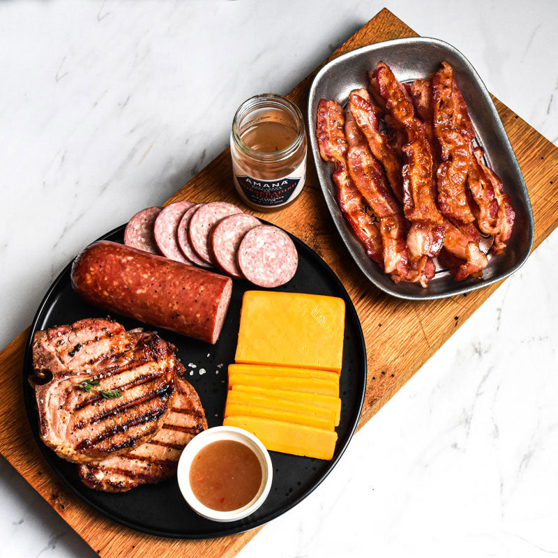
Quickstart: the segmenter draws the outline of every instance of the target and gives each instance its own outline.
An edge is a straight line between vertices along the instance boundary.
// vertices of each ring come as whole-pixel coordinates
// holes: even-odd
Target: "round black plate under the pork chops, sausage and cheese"
[[[123,230],[123,226],[114,229],[103,236],[103,239],[123,242]],[[43,455],[61,481],[86,504],[108,518],[138,531],[175,538],[211,538],[253,529],[285,513],[308,496],[335,467],[349,444],[361,414],[366,386],[364,338],[356,310],[335,273],[305,243],[292,235],[291,238],[299,251],[299,269],[287,285],[276,290],[339,296],[345,301],[346,306],[345,345],[340,379],[341,422],[336,428],[339,438],[333,460],[301,458],[271,451],[273,485],[269,497],[255,513],[230,523],[213,522],[194,513],[183,499],[176,478],[158,485],[140,486],[122,494],[97,492],[86,488],[77,478],[76,465],[58,458],[40,441],[34,393],[27,382],[27,378],[33,372],[31,342],[36,331],[54,325],[71,324],[85,317],[107,316],[105,310],[91,306],[73,292],[70,286],[71,264],[68,264],[47,292],[31,326],[24,361],[24,395],[31,429]],[[227,319],[216,345],[169,331],[159,332],[165,340],[176,345],[181,361],[187,369],[195,370],[193,375],[188,375],[188,380],[199,393],[210,427],[223,424],[227,365],[234,362],[242,296],[246,290],[255,288],[257,287],[246,281],[234,281]],[[114,314],[111,317],[121,322],[126,329],[137,326],[152,329],[151,326],[133,319]],[[197,368],[188,366],[190,363]],[[223,367],[218,368],[221,363]],[[202,368],[206,371],[203,375],[199,373]]]

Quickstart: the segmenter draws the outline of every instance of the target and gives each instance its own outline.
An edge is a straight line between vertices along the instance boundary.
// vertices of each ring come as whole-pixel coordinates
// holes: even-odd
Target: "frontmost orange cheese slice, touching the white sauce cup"
[[[225,426],[236,426],[252,432],[270,451],[305,455],[309,458],[333,458],[336,432],[302,424],[273,421],[259,416],[227,416]]]

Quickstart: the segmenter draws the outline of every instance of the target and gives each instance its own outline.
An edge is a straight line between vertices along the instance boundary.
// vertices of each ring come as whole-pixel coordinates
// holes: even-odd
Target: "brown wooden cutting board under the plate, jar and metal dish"
[[[382,10],[347,40],[330,59],[365,45],[417,36],[389,10]],[[289,94],[306,110],[308,90],[317,70]],[[535,218],[534,248],[557,226],[558,149],[508,107],[495,99],[527,183]],[[311,158],[306,187],[299,199],[279,213],[262,214],[296,234],[337,273],[361,319],[368,351],[368,386],[359,427],[365,424],[414,372],[499,286],[439,301],[393,299],[373,287],[348,255],[331,223]],[[227,200],[234,194],[229,151],[223,151],[169,202]],[[246,209],[246,208],[244,208]],[[22,398],[22,363],[27,331],[0,353],[0,451],[77,534],[102,557],[232,557],[255,536],[248,533],[205,541],[175,541],[137,533],[103,518],[57,480],[31,434]],[[401,350],[405,347],[405,351]],[[319,489],[318,489],[319,490]]]

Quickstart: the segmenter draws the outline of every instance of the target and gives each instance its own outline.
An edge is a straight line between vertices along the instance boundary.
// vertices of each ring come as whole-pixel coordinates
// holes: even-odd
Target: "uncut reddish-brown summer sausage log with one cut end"
[[[228,277],[110,241],[77,256],[72,286],[97,306],[209,343],[232,294]]]

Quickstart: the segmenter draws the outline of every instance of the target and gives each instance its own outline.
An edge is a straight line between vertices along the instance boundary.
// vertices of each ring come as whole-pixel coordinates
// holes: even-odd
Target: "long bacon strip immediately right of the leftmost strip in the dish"
[[[391,273],[394,282],[399,282],[407,277],[409,271],[409,250],[405,243],[402,209],[386,184],[382,165],[370,153],[368,143],[349,110],[345,117],[345,135],[349,144],[349,174],[379,219],[384,245],[384,270]]]

